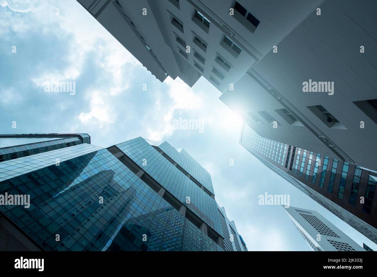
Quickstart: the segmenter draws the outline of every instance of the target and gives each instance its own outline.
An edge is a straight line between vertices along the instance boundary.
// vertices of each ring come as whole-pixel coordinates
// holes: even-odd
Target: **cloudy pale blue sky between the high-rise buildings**
[[[239,145],[241,119],[204,77],[192,88],[178,77],[161,83],[75,0],[0,0],[0,54],[0,133],[88,133],[101,147],[167,141],[211,174],[250,251],[311,250],[284,208],[258,204],[265,193],[289,194],[291,206],[318,211],[377,250]],[[74,81],[75,94],[46,92],[50,80]],[[201,120],[203,132],[173,129],[180,117]]]

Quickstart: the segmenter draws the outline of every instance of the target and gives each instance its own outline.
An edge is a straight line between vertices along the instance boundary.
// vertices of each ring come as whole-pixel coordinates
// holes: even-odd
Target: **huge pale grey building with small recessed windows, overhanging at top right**
[[[375,1],[78,2],[159,80],[202,75],[262,137],[377,170]]]

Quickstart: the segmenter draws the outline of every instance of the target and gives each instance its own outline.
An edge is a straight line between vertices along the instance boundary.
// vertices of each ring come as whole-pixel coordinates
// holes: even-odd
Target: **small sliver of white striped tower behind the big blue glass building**
[[[238,233],[234,220],[230,221],[225,213],[225,208],[217,205],[224,234],[224,246],[226,251],[248,251],[244,239]]]

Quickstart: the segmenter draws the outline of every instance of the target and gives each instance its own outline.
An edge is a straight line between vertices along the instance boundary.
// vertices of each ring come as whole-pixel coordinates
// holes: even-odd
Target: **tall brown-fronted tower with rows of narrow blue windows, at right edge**
[[[246,124],[239,143],[268,168],[377,242],[377,172],[262,138]]]

